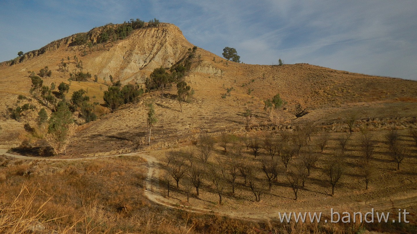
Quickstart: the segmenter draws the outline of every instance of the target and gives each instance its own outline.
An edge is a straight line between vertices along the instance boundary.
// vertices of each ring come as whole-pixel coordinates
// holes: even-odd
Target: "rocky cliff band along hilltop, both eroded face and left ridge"
[[[84,33],[88,42],[95,44],[104,28],[98,27]],[[158,27],[144,27],[134,30],[124,40],[98,44],[93,47],[94,56],[80,57],[83,51],[89,51],[87,45],[73,45],[78,34],[65,37],[45,45],[39,50],[26,52],[18,60],[3,62],[3,65],[24,63],[40,55],[58,55],[58,50],[72,51],[83,60],[85,70],[100,77],[112,75],[124,82],[135,80],[144,82],[146,76],[157,67],[171,67],[186,55],[188,48],[193,47],[181,30],[168,23]],[[57,57],[57,56],[55,56]],[[73,57],[73,56],[70,56]],[[45,66],[50,66],[45,64]]]

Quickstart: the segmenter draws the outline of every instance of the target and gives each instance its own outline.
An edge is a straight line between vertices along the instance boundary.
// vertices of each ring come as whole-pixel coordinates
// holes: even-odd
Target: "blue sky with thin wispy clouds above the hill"
[[[309,63],[417,80],[416,0],[1,0],[0,61],[109,22],[157,18],[248,64]]]

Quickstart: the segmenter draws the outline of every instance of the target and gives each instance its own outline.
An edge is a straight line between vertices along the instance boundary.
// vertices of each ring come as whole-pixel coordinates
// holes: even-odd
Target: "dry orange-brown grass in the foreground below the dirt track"
[[[414,230],[414,224],[281,224],[275,219],[248,222],[169,209],[143,195],[146,162],[137,156],[57,162],[2,157],[0,162],[1,233],[361,233],[365,229],[412,233]],[[205,188],[201,193],[207,192]]]

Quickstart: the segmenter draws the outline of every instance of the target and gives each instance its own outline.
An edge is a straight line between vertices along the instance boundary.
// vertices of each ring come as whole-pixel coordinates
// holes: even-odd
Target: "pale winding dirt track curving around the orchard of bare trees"
[[[148,197],[149,200],[152,202],[155,202],[157,204],[160,204],[165,207],[170,207],[172,209],[181,209],[186,210],[188,212],[193,213],[200,213],[200,214],[218,214],[221,216],[228,216],[236,219],[243,219],[243,220],[249,220],[249,221],[263,221],[263,220],[270,220],[270,219],[277,219],[278,218],[278,212],[288,212],[288,211],[280,211],[280,210],[271,210],[269,212],[236,212],[236,211],[214,211],[212,209],[204,209],[201,207],[188,207],[184,205],[179,205],[174,203],[172,200],[166,199],[164,197],[164,194],[161,194],[159,191],[159,170],[158,170],[158,159],[153,157],[150,154],[145,154],[146,151],[143,152],[133,152],[133,153],[127,153],[127,154],[117,154],[117,155],[111,155],[111,156],[98,156],[98,157],[88,157],[88,158],[73,158],[73,159],[53,159],[53,158],[40,158],[40,157],[28,157],[28,156],[22,156],[17,154],[10,154],[7,153],[7,149],[0,149],[0,155],[4,155],[7,157],[14,157],[18,159],[26,159],[26,160],[47,160],[47,161],[74,161],[74,160],[86,160],[86,159],[99,159],[99,158],[108,158],[108,157],[118,157],[118,156],[127,156],[127,155],[136,155],[139,157],[142,157],[143,159],[146,159],[148,164],[148,174],[146,176],[146,190],[145,195]],[[355,205],[352,203],[352,207],[355,207]],[[413,207],[417,206],[417,194],[406,194],[402,197],[396,197],[391,199],[379,199],[371,202],[367,202],[366,204],[363,204],[362,209],[374,208],[375,210],[387,210],[392,209],[394,207]],[[311,210],[311,209],[310,209]],[[308,210],[294,210],[291,212],[309,212]],[[323,212],[326,214],[326,212]]]

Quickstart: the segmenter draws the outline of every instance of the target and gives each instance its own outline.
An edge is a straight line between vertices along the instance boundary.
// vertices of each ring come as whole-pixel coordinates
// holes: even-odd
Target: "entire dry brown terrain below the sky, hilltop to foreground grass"
[[[417,82],[309,64],[236,63],[192,45],[175,25],[123,31],[128,26],[94,28],[1,63],[0,223],[19,218],[18,230],[63,233],[415,230]],[[175,83],[114,111],[103,100],[112,88],[146,89],[161,67],[186,70],[194,94],[182,108]],[[83,89],[98,117],[87,122],[72,107],[79,126],[66,154],[52,155],[42,139],[47,125],[36,123],[41,108],[48,116],[58,108],[30,92],[38,72],[59,100]],[[69,85],[64,95],[61,82]],[[267,113],[265,101],[277,94],[283,107]],[[158,119],[150,145],[149,102]],[[216,140],[204,151],[204,141]],[[178,178],[186,170],[200,173],[201,190],[191,185],[193,175]],[[335,171],[341,179],[332,182]],[[294,224],[277,216],[323,212],[329,219],[331,208],[375,209],[391,219],[407,209],[411,223]]]

